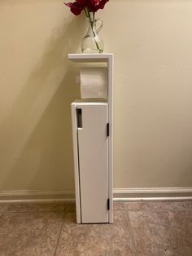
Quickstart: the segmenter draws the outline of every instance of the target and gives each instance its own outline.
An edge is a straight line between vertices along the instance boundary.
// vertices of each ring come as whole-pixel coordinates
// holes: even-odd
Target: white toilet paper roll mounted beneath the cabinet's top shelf
[[[107,68],[81,68],[81,99],[107,99]]]

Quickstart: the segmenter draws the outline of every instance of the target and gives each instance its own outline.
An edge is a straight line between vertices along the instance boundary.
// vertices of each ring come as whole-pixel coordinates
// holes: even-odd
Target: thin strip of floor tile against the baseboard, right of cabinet
[[[124,202],[125,210],[187,210],[188,208],[190,203],[186,201]]]

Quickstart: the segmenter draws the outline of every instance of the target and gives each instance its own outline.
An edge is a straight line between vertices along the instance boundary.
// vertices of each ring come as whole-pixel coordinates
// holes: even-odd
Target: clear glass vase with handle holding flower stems
[[[89,12],[88,30],[81,41],[81,51],[83,53],[103,53],[103,39],[99,37],[98,32],[103,27],[103,20],[94,19],[94,13]]]

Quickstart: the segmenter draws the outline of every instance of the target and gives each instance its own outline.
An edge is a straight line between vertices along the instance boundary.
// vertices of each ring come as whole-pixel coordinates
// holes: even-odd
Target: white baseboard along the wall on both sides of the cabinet
[[[114,201],[191,200],[192,188],[114,188]],[[75,201],[74,191],[0,191],[0,202]]]

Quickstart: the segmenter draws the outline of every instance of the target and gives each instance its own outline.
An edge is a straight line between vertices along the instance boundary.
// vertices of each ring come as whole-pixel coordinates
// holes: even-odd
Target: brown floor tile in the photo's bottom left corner
[[[6,213],[0,219],[1,256],[53,256],[63,214]]]

